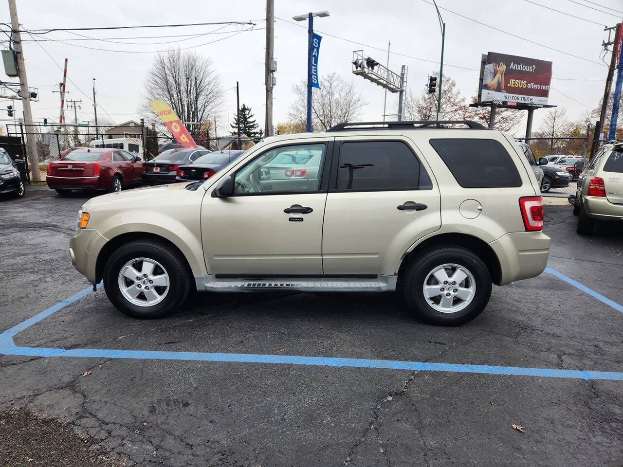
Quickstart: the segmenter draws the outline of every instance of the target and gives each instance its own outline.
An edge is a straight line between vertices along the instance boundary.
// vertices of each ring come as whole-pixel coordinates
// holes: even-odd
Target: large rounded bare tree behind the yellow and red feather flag
[[[196,85],[195,85],[196,83]],[[161,100],[171,106],[194,137],[221,111],[221,78],[209,57],[191,50],[166,50],[156,55],[145,80],[141,110],[148,120],[159,121],[149,106]]]

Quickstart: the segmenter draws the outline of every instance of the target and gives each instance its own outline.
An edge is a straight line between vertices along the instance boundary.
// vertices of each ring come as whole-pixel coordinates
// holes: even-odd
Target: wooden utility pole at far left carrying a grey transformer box
[[[32,167],[32,181],[42,181],[42,176],[35,167],[39,167],[39,153],[37,141],[32,125],[31,93],[28,90],[26,78],[26,64],[24,64],[24,52],[22,50],[22,38],[19,34],[19,19],[17,19],[17,6],[15,0],[9,0],[9,12],[11,13],[12,49],[17,55],[17,75],[22,94],[22,106],[24,106],[24,123],[26,124],[26,139],[28,142],[28,159]]]

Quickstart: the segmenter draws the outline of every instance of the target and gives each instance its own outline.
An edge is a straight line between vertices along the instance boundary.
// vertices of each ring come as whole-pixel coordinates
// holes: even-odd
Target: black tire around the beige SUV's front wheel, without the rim
[[[119,273],[134,258],[155,260],[169,276],[169,289],[163,300],[151,306],[131,303],[121,293]],[[115,307],[133,318],[153,319],[172,313],[188,297],[192,276],[186,260],[173,248],[153,240],[135,240],[118,248],[104,267],[104,290]],[[139,295],[140,297],[140,295]],[[143,295],[145,298],[145,295]]]

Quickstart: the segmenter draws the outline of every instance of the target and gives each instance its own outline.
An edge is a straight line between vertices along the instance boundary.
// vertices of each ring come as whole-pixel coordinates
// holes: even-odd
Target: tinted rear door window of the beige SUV
[[[340,147],[338,191],[432,189],[416,154],[402,141],[354,141]]]

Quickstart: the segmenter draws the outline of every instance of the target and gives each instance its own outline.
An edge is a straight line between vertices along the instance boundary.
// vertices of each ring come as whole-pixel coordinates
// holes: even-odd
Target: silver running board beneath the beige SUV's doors
[[[217,278],[216,275],[195,278],[197,290],[211,292],[255,292],[262,290],[298,290],[307,292],[385,292],[396,290],[397,276],[374,278]]]

